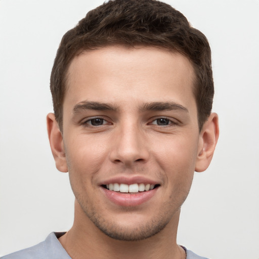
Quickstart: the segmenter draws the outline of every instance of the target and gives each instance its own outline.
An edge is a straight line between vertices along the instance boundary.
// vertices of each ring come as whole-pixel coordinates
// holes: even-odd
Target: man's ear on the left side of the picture
[[[56,167],[61,172],[67,172],[66,154],[63,144],[63,137],[59,130],[58,122],[54,113],[47,115],[47,128],[51,151],[56,162]]]

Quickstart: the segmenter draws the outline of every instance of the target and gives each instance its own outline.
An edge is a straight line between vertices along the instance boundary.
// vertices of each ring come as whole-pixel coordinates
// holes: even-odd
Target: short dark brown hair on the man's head
[[[90,11],[61,40],[50,82],[54,113],[61,131],[66,75],[72,59],[83,50],[110,45],[154,46],[186,56],[195,70],[194,95],[201,130],[210,115],[214,95],[211,53],[205,35],[165,3],[111,0]]]

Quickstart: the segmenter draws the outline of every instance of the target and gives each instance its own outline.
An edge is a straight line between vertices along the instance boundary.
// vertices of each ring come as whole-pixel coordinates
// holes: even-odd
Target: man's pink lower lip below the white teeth
[[[155,193],[157,192],[157,188],[145,191],[145,192],[138,192],[138,193],[120,193],[120,192],[114,192],[105,189],[104,187],[100,187],[104,195],[113,203],[120,205],[120,206],[138,206],[143,204],[144,202],[147,202],[150,200]]]

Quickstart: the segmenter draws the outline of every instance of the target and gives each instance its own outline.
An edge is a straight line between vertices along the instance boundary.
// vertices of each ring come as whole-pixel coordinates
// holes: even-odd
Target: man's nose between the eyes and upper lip
[[[132,166],[145,163],[149,158],[147,139],[144,131],[136,124],[117,128],[113,136],[110,159],[113,163]]]

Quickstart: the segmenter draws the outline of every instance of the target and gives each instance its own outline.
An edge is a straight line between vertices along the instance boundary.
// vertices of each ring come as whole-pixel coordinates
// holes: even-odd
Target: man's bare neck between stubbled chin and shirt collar
[[[179,216],[180,210],[163,230],[150,238],[121,241],[105,235],[76,205],[74,224],[59,241],[73,259],[85,258],[85,255],[94,259],[101,259],[104,255],[107,259],[185,258],[183,248],[176,243]]]

